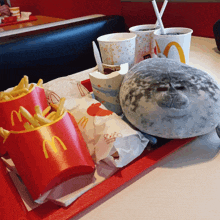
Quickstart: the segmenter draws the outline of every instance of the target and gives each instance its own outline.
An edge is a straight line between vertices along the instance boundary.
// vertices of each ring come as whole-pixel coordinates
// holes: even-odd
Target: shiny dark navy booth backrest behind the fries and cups
[[[18,84],[44,82],[96,66],[92,41],[104,34],[128,31],[122,16],[103,16],[2,38],[0,43],[0,91]],[[97,41],[96,41],[97,43]],[[98,45],[98,43],[97,43]]]

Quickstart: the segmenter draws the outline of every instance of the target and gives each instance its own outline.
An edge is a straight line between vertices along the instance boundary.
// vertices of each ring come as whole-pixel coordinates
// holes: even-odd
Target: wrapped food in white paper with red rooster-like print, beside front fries
[[[138,157],[148,144],[149,140],[140,132],[89,96],[75,100],[75,106],[69,111],[96,162],[105,160],[111,166],[123,167]]]

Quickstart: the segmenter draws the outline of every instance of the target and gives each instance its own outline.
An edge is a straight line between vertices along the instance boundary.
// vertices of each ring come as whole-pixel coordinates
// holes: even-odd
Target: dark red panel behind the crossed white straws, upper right
[[[158,2],[158,8],[162,6]],[[165,27],[187,27],[194,36],[214,37],[213,25],[220,19],[217,2],[168,2],[163,14]],[[122,2],[122,16],[131,27],[155,24],[156,15],[151,2]]]

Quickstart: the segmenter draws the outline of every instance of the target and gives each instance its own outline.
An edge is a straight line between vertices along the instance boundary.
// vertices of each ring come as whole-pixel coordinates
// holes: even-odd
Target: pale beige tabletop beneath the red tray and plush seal
[[[215,40],[193,36],[189,65],[220,83]],[[197,138],[72,220],[219,220],[219,146],[215,131]]]

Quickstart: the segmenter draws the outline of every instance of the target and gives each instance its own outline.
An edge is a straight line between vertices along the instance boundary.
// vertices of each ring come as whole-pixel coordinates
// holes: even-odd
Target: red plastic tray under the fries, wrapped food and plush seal
[[[82,81],[83,85],[88,85],[91,91],[89,80]],[[131,180],[144,170],[150,168],[164,157],[173,153],[185,144],[195,138],[171,140],[160,148],[153,151],[144,151],[144,153],[135,159],[132,163],[119,169],[112,177],[84,193],[69,207],[64,208],[47,202],[28,212],[23,204],[19,193],[17,192],[3,162],[0,160],[0,212],[2,220],[20,219],[20,220],[64,220],[76,216],[92,204],[96,203],[109,193],[113,192],[124,183]],[[3,215],[2,215],[3,214]]]

